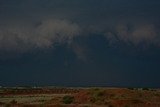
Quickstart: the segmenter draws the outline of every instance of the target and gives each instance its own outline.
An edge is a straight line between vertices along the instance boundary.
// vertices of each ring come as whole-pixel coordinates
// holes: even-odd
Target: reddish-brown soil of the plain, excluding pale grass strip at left
[[[160,107],[160,90],[126,89],[126,88],[41,88],[41,89],[5,89],[0,96],[33,94],[67,94],[74,100],[64,104],[63,97],[54,97],[38,104],[15,104],[14,107]],[[15,99],[16,100],[16,99]],[[0,105],[5,105],[0,102]],[[11,107],[12,107],[11,106]]]

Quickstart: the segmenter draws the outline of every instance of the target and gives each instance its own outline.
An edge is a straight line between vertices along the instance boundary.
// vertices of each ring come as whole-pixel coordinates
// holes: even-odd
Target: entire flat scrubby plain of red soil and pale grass
[[[160,107],[148,88],[1,88],[0,107]]]

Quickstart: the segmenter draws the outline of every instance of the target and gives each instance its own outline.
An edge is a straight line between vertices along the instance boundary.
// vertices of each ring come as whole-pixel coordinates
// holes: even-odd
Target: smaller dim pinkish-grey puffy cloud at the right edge
[[[124,42],[135,46],[160,46],[160,32],[153,23],[134,23],[133,25],[121,23],[116,25],[114,30],[108,31],[105,36],[111,44]]]

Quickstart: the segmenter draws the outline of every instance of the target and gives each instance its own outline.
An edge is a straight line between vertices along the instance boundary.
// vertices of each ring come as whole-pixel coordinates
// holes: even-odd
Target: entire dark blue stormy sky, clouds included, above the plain
[[[160,1],[0,0],[0,85],[159,87]]]

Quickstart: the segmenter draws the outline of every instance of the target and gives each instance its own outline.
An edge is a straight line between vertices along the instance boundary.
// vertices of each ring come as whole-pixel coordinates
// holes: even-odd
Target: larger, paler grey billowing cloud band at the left
[[[25,52],[50,48],[55,43],[71,42],[80,32],[77,24],[67,20],[48,19],[33,25],[26,26],[16,21],[16,24],[0,26],[0,50]]]

